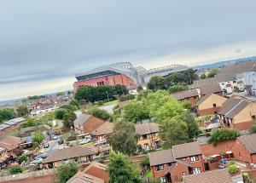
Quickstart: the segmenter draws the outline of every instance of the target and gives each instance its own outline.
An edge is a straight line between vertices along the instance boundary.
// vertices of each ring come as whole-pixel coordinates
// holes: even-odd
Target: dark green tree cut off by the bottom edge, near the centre
[[[143,183],[139,169],[122,154],[111,153],[109,159],[109,183]]]

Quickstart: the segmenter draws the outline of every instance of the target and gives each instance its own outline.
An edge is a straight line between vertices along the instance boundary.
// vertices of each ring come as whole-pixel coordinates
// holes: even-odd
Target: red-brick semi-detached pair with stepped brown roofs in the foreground
[[[172,146],[172,149],[148,154],[150,169],[161,182],[180,182],[185,174],[204,172],[201,147],[198,142]]]

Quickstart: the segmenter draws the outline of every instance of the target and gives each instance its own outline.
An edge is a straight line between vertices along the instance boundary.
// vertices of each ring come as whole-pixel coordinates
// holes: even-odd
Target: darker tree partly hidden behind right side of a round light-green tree
[[[196,138],[199,134],[201,134],[199,125],[195,121],[195,117],[193,117],[190,112],[183,112],[182,114],[177,116],[177,118],[187,124],[189,139]]]

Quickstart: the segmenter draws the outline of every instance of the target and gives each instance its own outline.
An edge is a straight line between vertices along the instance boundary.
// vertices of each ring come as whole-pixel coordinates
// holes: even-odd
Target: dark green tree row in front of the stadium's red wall
[[[79,102],[95,102],[99,100],[113,100],[121,94],[128,94],[125,86],[84,86],[79,88],[75,93],[75,99]]]

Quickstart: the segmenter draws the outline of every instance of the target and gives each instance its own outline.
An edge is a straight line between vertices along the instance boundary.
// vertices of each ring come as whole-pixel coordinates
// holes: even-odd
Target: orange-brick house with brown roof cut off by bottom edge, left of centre
[[[92,162],[87,167],[75,174],[67,183],[76,182],[91,182],[91,183],[108,183],[109,174],[107,165],[97,162]]]

